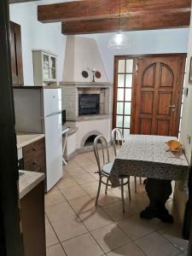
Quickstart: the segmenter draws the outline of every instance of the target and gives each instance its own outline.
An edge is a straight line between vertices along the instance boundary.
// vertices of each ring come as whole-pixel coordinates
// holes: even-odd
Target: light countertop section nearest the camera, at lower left
[[[45,175],[42,172],[23,172],[24,175],[19,179],[20,199],[34,189],[39,183],[44,181]]]

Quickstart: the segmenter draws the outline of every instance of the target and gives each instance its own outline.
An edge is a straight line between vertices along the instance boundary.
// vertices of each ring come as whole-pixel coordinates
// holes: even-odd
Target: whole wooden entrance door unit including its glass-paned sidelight
[[[185,54],[121,55],[114,59],[113,128],[178,136]]]

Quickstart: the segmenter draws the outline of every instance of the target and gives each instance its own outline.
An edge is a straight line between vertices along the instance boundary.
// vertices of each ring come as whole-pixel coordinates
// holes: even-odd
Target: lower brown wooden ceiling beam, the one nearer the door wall
[[[120,19],[120,30],[136,31],[162,28],[176,28],[189,26],[190,11],[188,12],[153,12],[131,15]],[[79,20],[62,23],[62,33],[65,35],[89,34],[98,32],[117,32],[119,19],[109,18],[101,20]]]

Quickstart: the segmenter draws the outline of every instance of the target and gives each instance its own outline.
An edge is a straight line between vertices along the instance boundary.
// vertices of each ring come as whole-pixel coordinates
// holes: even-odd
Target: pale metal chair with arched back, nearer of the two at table
[[[99,148],[102,148],[101,151],[99,151]],[[98,190],[96,195],[96,206],[97,206],[102,183],[106,185],[105,194],[107,194],[108,186],[111,186],[110,184],[108,184],[109,182],[108,179],[113,166],[113,163],[110,162],[110,158],[109,158],[108,143],[105,137],[103,137],[102,135],[97,136],[94,140],[94,153],[96,156],[96,163],[98,166],[97,173],[99,174],[99,185],[98,185]],[[107,183],[102,180],[103,177],[107,177]],[[124,181],[125,178],[127,179],[126,182]],[[130,177],[119,177],[119,179],[120,179],[120,186],[121,186],[123,212],[125,212],[124,186],[128,184],[129,195],[131,197]]]

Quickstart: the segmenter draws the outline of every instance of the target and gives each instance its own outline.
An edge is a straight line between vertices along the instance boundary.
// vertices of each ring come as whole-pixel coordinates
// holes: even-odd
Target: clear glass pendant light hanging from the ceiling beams
[[[130,40],[120,31],[121,2],[119,0],[119,32],[113,35],[108,41],[110,49],[125,49],[130,47]]]

